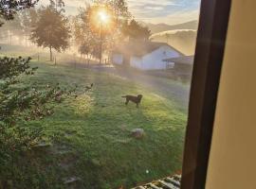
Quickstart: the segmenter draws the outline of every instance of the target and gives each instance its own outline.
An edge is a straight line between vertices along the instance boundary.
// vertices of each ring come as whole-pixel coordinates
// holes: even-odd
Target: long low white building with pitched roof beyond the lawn
[[[166,59],[180,56],[183,54],[167,43],[134,42],[116,47],[112,62],[139,70],[164,70],[172,66]]]

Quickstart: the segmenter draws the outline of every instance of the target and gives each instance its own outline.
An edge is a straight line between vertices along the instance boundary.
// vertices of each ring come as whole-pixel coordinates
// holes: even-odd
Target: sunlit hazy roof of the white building
[[[180,55],[183,55],[173,46],[170,46],[168,43],[156,43],[156,42],[129,42],[123,43],[122,45],[116,46],[114,48],[114,53],[120,53],[123,55],[137,56],[142,57],[144,55],[150,54],[161,46],[169,46],[174,49]]]

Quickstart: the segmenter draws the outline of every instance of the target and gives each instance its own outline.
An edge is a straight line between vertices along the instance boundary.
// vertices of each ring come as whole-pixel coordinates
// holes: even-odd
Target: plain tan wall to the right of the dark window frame
[[[256,1],[233,0],[207,189],[256,188]]]

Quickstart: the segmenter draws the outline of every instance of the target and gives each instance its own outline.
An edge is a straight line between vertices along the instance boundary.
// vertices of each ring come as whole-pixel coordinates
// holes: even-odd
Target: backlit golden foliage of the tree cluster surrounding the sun
[[[109,14],[109,21],[101,26],[98,14],[104,9]],[[115,43],[121,39],[120,28],[131,17],[124,0],[94,0],[93,4],[81,8],[73,19],[75,42],[81,54],[100,59],[102,51],[110,53]]]

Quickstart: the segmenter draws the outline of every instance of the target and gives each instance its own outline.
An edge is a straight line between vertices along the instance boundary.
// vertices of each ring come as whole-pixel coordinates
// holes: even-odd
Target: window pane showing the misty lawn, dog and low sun
[[[178,187],[199,7],[1,0],[0,188]]]

